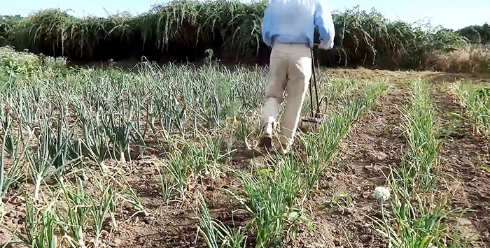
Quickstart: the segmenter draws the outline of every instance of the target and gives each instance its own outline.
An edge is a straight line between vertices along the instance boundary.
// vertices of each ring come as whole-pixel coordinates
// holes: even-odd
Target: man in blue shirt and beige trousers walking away
[[[262,20],[262,39],[272,47],[269,75],[262,108],[264,128],[261,145],[272,147],[276,117],[284,101],[279,152],[286,154],[293,145],[306,89],[311,78],[311,49],[314,27],[318,27],[319,48],[333,48],[335,28],[326,0],[269,0]]]

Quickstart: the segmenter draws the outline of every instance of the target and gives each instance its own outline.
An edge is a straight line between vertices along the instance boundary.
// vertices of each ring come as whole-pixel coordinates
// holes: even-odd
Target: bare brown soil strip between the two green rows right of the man
[[[361,117],[339,147],[330,170],[321,177],[314,200],[313,231],[304,230],[291,247],[383,247],[364,214],[375,214],[379,205],[372,197],[383,185],[381,168],[398,163],[402,137],[392,129],[400,122],[396,106],[405,96],[393,86],[381,96],[370,113]]]

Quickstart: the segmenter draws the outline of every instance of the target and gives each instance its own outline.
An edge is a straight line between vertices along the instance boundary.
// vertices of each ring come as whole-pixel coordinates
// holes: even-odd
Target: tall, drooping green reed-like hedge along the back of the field
[[[174,0],[146,13],[77,18],[47,9],[22,20],[0,20],[0,41],[70,59],[120,59],[134,55],[201,57],[208,48],[256,57],[267,1]],[[335,49],[323,64],[423,66],[423,55],[462,48],[465,38],[440,27],[387,20],[355,7],[333,13]],[[2,31],[3,30],[3,31]],[[318,34],[316,33],[316,39]],[[326,57],[325,57],[326,55]],[[379,62],[379,63],[378,63]],[[398,64],[397,64],[398,63]]]

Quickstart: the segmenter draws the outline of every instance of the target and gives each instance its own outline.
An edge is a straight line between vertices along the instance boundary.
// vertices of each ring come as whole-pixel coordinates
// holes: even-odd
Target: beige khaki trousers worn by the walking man
[[[293,144],[311,73],[311,50],[307,44],[274,44],[265,86],[262,125],[272,123],[276,126],[281,103],[286,100],[279,135],[279,141],[286,149]]]

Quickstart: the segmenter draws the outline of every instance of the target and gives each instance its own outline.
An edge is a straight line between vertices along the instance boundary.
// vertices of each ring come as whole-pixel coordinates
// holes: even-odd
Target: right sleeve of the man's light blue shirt
[[[315,6],[314,24],[318,26],[320,41],[326,41],[333,45],[335,27],[333,25],[332,13],[326,0],[317,0]]]

